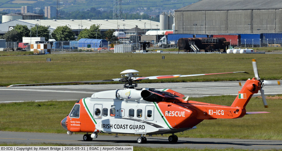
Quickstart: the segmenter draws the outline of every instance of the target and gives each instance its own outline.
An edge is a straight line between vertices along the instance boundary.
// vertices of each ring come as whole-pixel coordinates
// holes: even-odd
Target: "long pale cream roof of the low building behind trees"
[[[114,29],[117,30],[119,25],[119,29],[123,29],[123,24],[125,24],[124,28],[126,30],[135,28],[136,25],[138,28],[144,29],[144,24],[146,23],[146,29],[150,29],[150,24],[152,29],[157,28],[157,24],[159,25],[159,22],[156,21],[150,21],[150,20],[144,20],[144,19],[126,19],[126,20],[113,20],[113,19],[105,19],[105,20],[86,20],[86,19],[62,19],[62,20],[40,20],[40,19],[31,19],[31,20],[22,20],[19,19],[18,21],[23,21],[26,23],[31,23],[31,24],[36,24],[38,23],[39,25],[42,26],[50,26],[52,29],[56,29],[58,26],[70,26],[72,30],[78,30],[81,29],[81,25],[83,26],[82,29],[89,29],[91,25],[93,24],[98,24],[100,25],[101,30],[109,30],[109,29]],[[78,24],[80,26],[78,26]]]

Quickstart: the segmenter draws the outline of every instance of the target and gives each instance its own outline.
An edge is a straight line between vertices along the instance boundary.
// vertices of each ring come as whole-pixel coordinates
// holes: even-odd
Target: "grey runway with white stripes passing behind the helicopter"
[[[238,81],[140,83],[137,88],[169,88],[190,97],[238,95],[241,89]],[[78,100],[91,97],[99,91],[114,89],[123,89],[123,84],[0,87],[0,102]],[[282,94],[282,86],[267,86],[263,89],[265,95]],[[254,96],[257,95],[260,95],[260,92]]]

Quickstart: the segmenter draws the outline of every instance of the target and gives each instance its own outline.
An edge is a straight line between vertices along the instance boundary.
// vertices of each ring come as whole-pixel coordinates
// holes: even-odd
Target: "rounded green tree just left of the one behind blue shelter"
[[[52,32],[52,37],[57,41],[75,40],[74,36],[74,32],[68,26],[58,26]]]

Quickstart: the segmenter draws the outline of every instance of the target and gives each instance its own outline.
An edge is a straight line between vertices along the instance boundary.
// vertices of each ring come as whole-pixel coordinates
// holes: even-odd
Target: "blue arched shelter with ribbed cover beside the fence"
[[[108,41],[104,39],[81,38],[80,40],[78,40],[78,47],[79,48],[105,48],[105,47],[108,47]]]

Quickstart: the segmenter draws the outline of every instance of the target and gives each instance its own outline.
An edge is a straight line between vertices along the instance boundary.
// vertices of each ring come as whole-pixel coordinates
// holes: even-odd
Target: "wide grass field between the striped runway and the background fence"
[[[2,53],[0,53],[1,56]],[[161,59],[165,56],[165,59]],[[52,58],[52,62],[46,62]],[[114,79],[127,69],[139,76],[202,74],[246,71],[250,74],[221,74],[141,82],[240,81],[254,77],[252,58],[263,79],[282,79],[282,56],[277,54],[114,54],[73,53],[0,57],[0,86]]]

